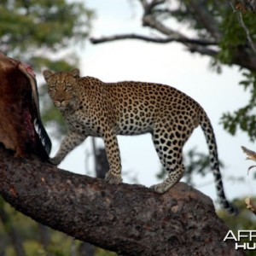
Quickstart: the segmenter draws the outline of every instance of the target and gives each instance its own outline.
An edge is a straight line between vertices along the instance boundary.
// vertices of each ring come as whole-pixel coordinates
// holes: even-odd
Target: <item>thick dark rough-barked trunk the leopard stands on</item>
[[[122,255],[243,255],[212,200],[185,183],[166,194],[111,185],[0,148],[0,195],[41,224]]]

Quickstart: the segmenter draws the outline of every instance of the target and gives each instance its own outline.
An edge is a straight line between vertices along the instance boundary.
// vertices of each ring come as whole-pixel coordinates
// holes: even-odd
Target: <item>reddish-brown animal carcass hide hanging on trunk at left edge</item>
[[[32,68],[0,53],[0,143],[15,156],[49,158],[51,142],[42,124]]]

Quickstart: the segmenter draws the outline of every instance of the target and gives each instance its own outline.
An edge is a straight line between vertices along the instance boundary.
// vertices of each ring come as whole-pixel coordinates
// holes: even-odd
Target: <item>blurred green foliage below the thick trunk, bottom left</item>
[[[73,237],[67,236],[64,233],[51,230],[49,232],[49,245],[44,247],[41,241],[42,230],[38,229],[38,223],[31,218],[26,217],[20,212],[16,212],[8,203],[4,202],[0,197],[0,210],[4,209],[8,213],[9,219],[3,222],[0,218],[0,238],[4,241],[4,255],[16,256],[13,241],[8,236],[6,228],[15,227],[16,234],[19,236],[26,256],[70,256],[81,255],[79,247],[82,241],[74,240]],[[1,245],[1,242],[0,242]],[[2,250],[2,248],[1,248]],[[74,251],[75,253],[71,253]],[[83,254],[84,255],[84,254]],[[114,256],[116,253],[111,253],[100,248],[96,248],[96,256]]]

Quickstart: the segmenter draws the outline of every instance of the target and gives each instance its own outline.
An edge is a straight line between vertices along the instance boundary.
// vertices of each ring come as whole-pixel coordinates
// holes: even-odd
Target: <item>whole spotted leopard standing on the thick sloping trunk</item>
[[[49,159],[51,164],[58,166],[87,137],[102,137],[109,164],[105,179],[119,184],[122,166],[117,136],[151,133],[154,148],[168,173],[164,181],[151,189],[163,194],[183,177],[183,145],[200,125],[207,141],[218,201],[227,212],[237,214],[224,193],[211,121],[193,98],[166,84],[104,83],[94,77],[80,77],[78,68],[56,73],[44,70],[43,76],[49,97],[60,110],[68,130],[60,149]]]

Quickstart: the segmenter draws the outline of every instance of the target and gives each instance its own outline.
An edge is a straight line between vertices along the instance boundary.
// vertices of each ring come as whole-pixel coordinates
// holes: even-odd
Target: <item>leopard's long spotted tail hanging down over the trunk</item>
[[[222,177],[219,171],[218,150],[217,150],[217,143],[216,143],[214,131],[212,128],[211,121],[207,117],[207,113],[202,108],[201,108],[201,113],[199,114],[199,124],[201,125],[201,129],[204,132],[204,135],[207,139],[207,146],[209,148],[209,154],[210,154],[210,165],[212,168],[214,182],[217,189],[218,201],[220,205],[227,212],[229,212],[232,215],[237,215],[238,214],[237,208],[233,206],[229,201],[227,201],[224,193]]]

